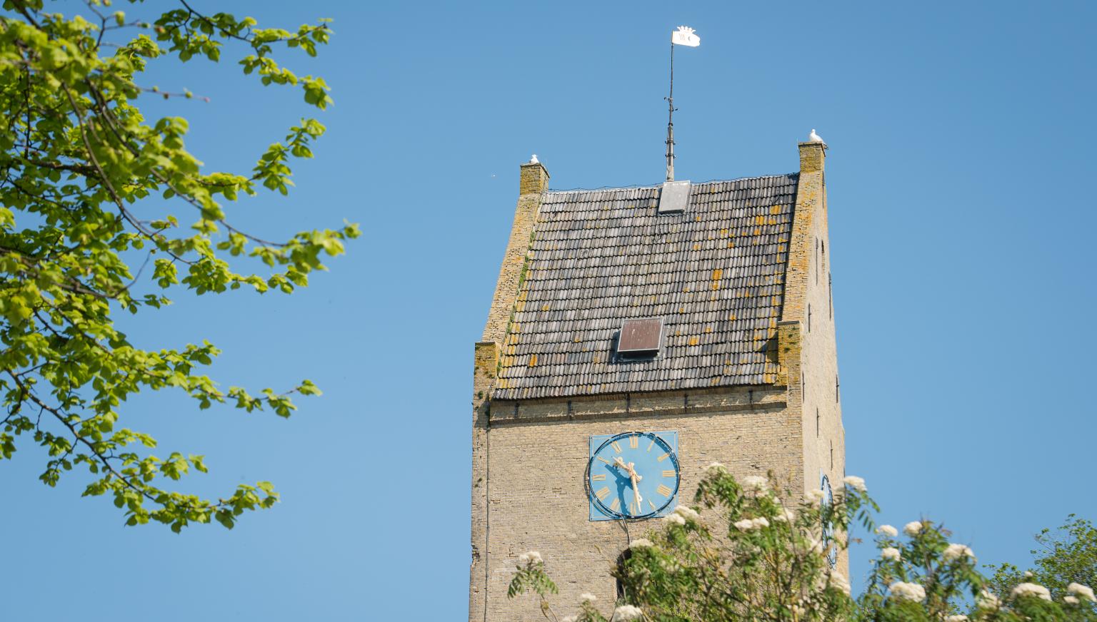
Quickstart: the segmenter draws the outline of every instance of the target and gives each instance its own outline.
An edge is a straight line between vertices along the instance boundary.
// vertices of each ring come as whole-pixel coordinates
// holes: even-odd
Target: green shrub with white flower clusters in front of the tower
[[[875,529],[880,557],[855,599],[828,555],[849,545],[855,523],[871,532],[879,508],[864,480],[844,483],[826,503],[799,498],[772,476],[740,484],[714,463],[694,507],[679,506],[631,542],[612,573],[624,597],[607,613],[584,594],[578,611],[557,618],[548,601],[556,586],[536,552],[519,558],[508,596],[535,592],[557,622],[1097,622],[1097,598],[1082,584],[1060,599],[1033,583],[988,591],[974,552],[926,520],[907,523],[902,537],[890,525]]]

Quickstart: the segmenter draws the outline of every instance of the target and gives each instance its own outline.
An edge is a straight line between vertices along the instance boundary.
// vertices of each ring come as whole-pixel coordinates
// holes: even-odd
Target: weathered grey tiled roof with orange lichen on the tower
[[[694,184],[664,215],[659,186],[545,193],[493,396],[772,383],[796,180]],[[622,321],[652,316],[658,356],[615,356]]]

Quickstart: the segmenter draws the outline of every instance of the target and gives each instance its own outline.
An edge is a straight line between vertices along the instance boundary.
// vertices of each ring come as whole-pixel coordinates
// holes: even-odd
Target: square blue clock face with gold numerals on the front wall
[[[680,483],[678,433],[590,437],[590,520],[654,518],[675,507]]]

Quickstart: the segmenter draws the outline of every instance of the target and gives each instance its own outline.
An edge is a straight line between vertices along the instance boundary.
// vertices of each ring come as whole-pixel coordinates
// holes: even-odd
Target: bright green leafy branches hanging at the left
[[[203,172],[184,147],[186,120],[146,119],[139,107],[143,97],[194,95],[161,92],[143,72],[152,59],[217,61],[234,47],[244,73],[301,89],[323,110],[331,103],[324,80],[296,76],[274,54],[315,56],[331,31],[325,21],[261,28],[185,0],[152,23],[109,5],[88,0],[66,16],[43,0],[5,0],[0,13],[0,459],[41,446],[43,482],[86,471],[83,494],[113,497],[127,525],[155,520],[179,531],[215,519],[231,528],[244,511],[275,503],[272,485],[217,499],[162,487],[205,472],[203,457],[152,453],[156,440],[123,425],[122,403],[143,389],[170,389],[202,408],[227,402],[285,417],[292,393],[319,391],[307,380],[285,392],[223,390],[202,373],[214,345],[143,349],[114,314],[155,311],[176,289],[290,293],[359,231],[347,224],[269,241],[231,224],[227,203],[289,192],[291,161],[312,157],[324,126],[302,119],[245,174]]]

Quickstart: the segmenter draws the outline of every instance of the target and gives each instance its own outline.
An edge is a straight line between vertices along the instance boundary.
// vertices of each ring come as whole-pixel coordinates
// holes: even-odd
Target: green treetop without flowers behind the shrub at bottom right
[[[1008,594],[1018,584],[1033,581],[1047,586],[1054,597],[1067,596],[1071,584],[1097,584],[1097,528],[1075,515],[1058,529],[1043,529],[1033,537],[1039,544],[1031,551],[1036,566],[1022,572],[1002,564],[991,577],[996,594]]]

